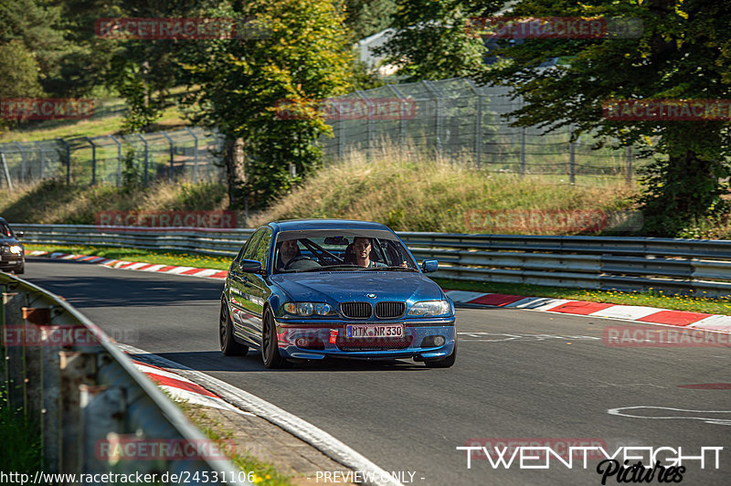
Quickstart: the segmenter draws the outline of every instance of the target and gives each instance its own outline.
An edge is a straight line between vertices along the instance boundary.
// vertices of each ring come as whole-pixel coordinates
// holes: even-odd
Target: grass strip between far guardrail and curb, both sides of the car
[[[49,247],[26,245],[26,251],[33,249],[48,252],[60,251],[83,255],[97,255],[108,259],[125,259],[159,263],[164,265],[180,265],[204,269],[228,269],[231,259],[228,257],[208,257],[191,255],[183,252],[163,252],[137,248],[94,248],[94,247]],[[490,293],[506,293],[530,297],[553,297],[575,301],[607,302],[622,305],[643,305],[659,307],[673,311],[705,312],[709,314],[731,315],[731,299],[710,298],[703,295],[683,296],[665,295],[662,291],[623,292],[623,291],[590,291],[567,287],[545,287],[522,283],[490,283],[465,280],[434,279],[442,289],[452,291],[475,291]]]

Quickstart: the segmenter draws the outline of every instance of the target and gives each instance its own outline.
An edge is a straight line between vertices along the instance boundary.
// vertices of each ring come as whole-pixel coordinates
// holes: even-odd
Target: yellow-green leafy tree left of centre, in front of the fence
[[[231,205],[246,194],[251,206],[264,206],[320,164],[317,139],[330,129],[316,104],[346,90],[353,62],[343,15],[307,0],[222,5],[215,14],[247,18],[251,27],[246,38],[210,41],[190,54],[185,67],[200,90],[187,103],[198,107],[194,121],[227,140]],[[281,103],[296,116],[281,116]],[[245,180],[230,163],[239,139]]]

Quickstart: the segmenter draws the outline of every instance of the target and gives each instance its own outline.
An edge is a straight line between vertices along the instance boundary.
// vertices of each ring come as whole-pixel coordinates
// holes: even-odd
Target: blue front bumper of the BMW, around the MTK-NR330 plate
[[[454,317],[400,321],[294,321],[275,320],[279,350],[283,357],[323,359],[326,356],[355,359],[438,359],[454,351],[457,337]],[[403,338],[348,338],[348,324],[404,324]],[[425,340],[442,336],[440,346],[424,345]]]

